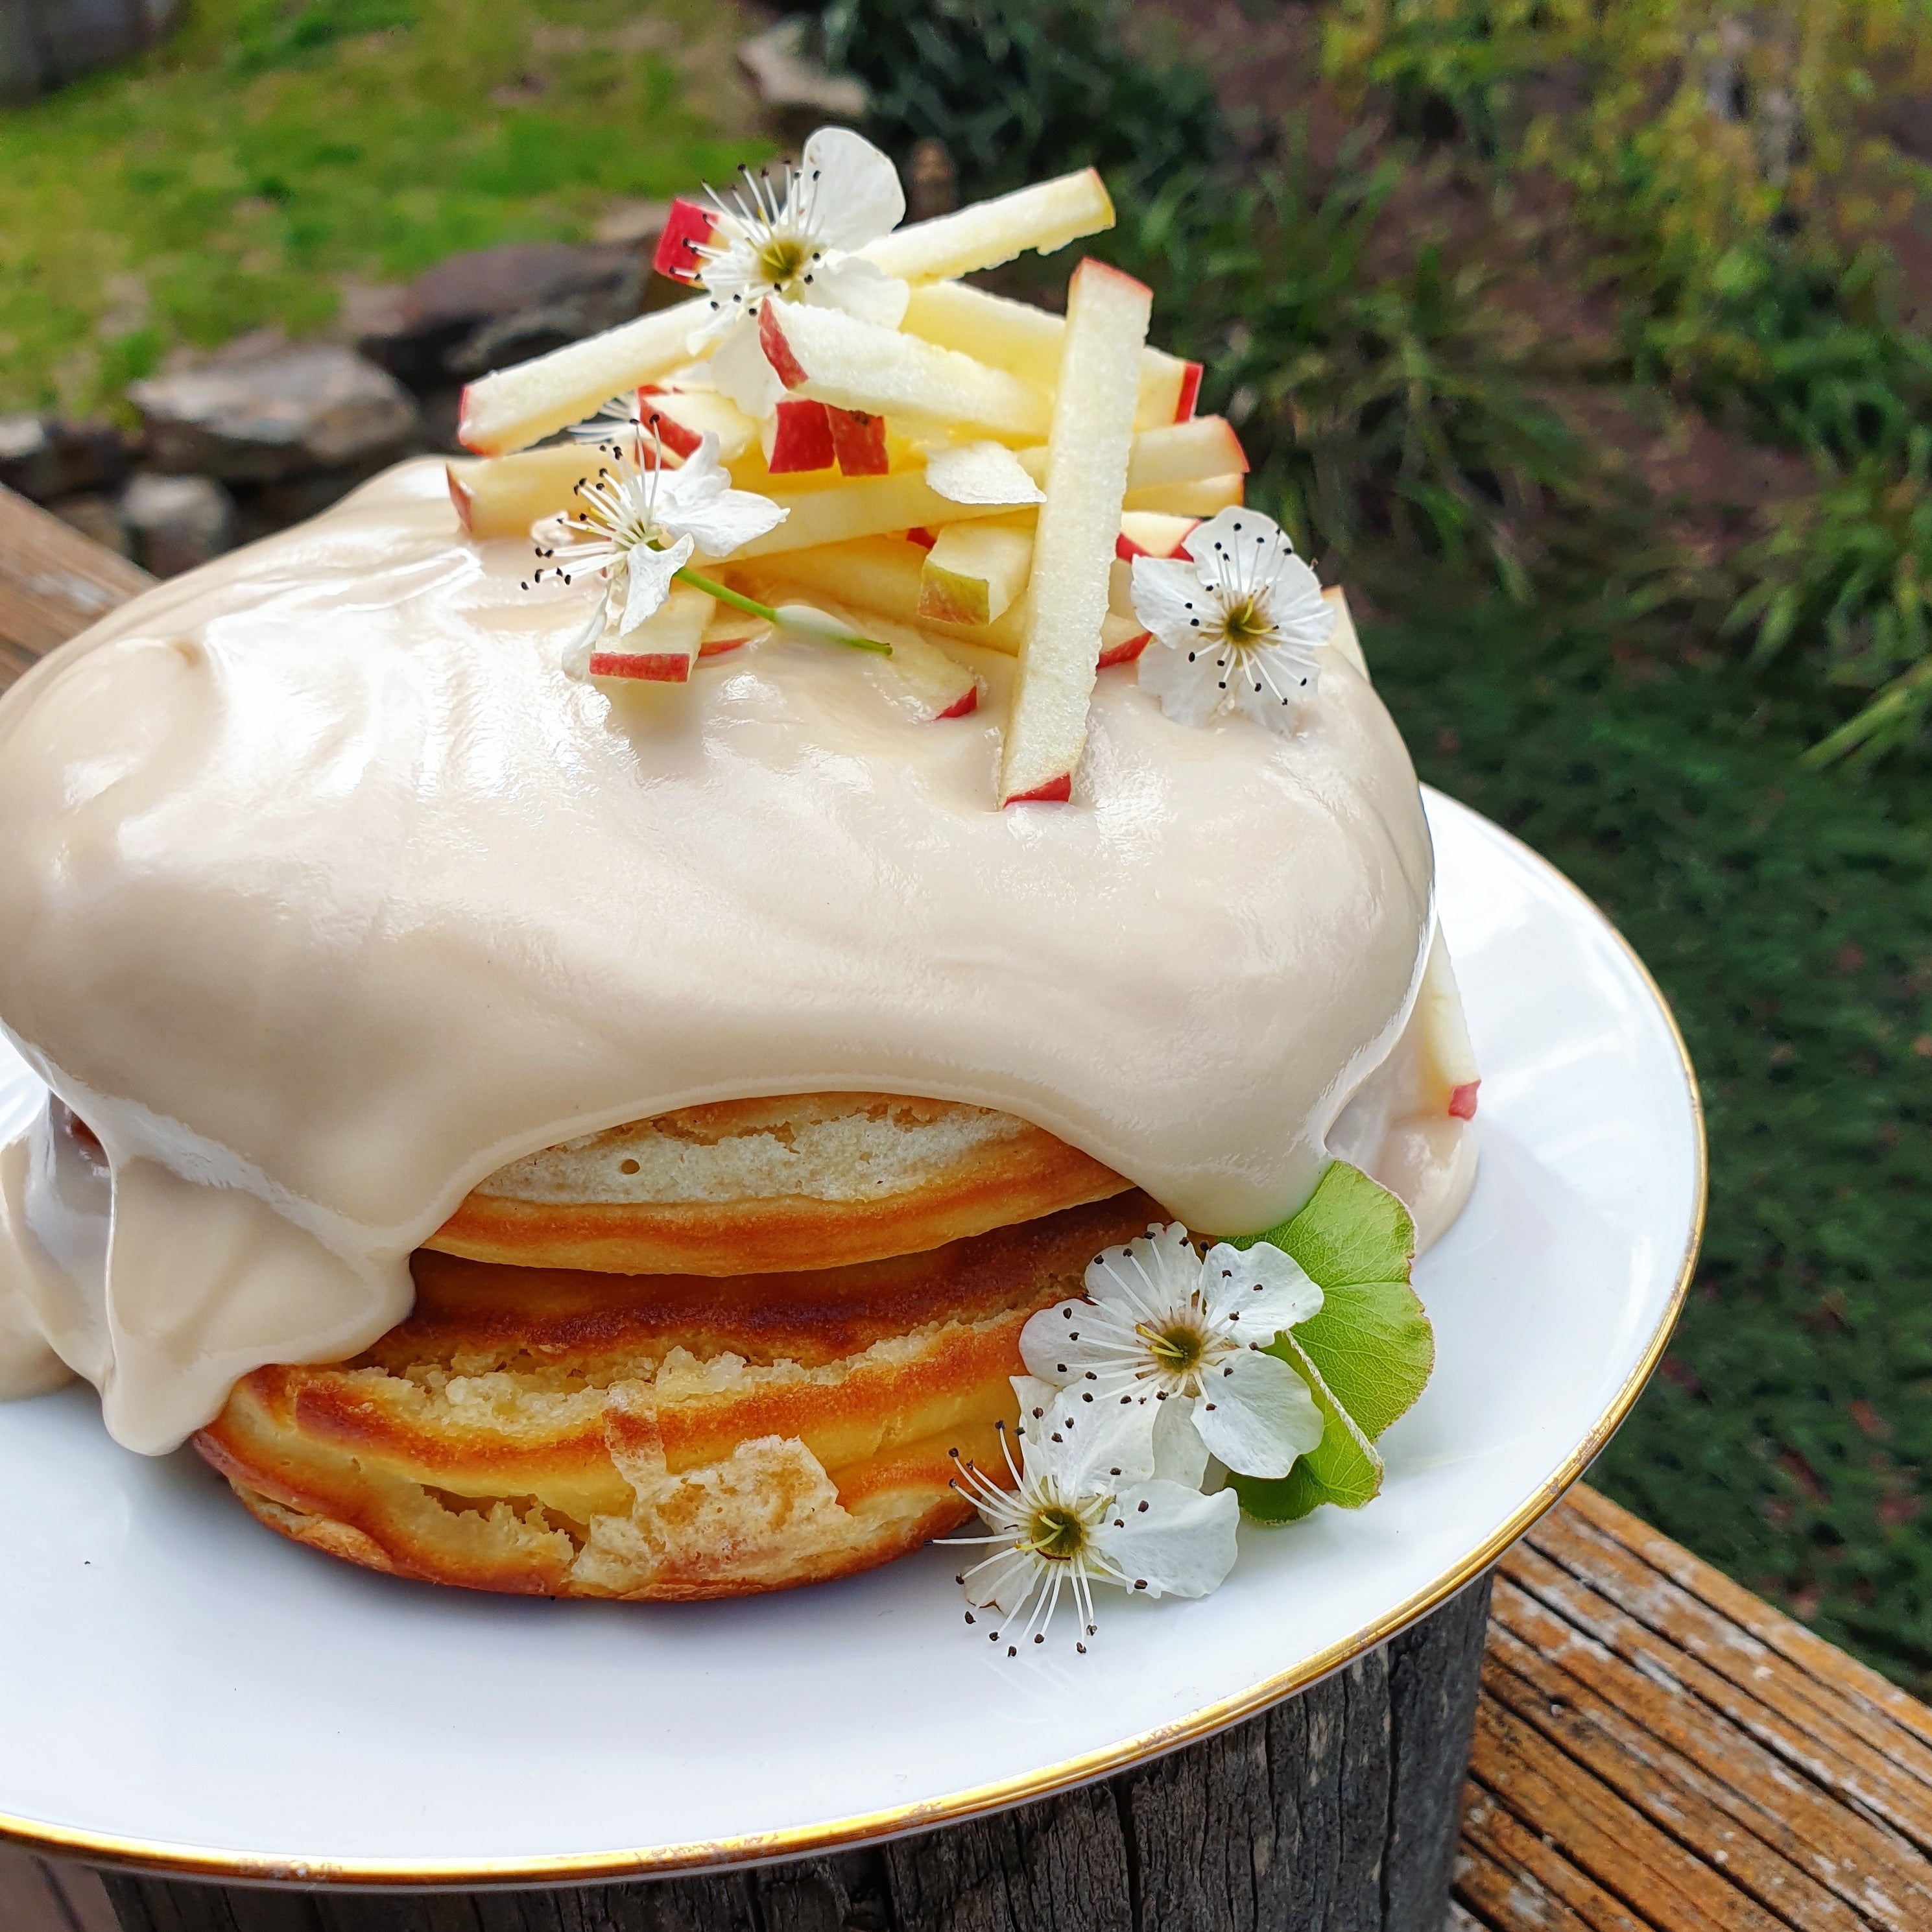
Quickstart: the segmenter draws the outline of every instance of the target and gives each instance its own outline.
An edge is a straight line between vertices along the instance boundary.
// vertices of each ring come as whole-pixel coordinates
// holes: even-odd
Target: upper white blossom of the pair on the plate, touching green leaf
[[[1265,1240],[1225,1242],[1202,1258],[1180,1223],[1151,1227],[1107,1248],[1086,1271],[1088,1300],[1043,1308],[1020,1331],[1020,1354],[1041,1381],[1122,1393],[1175,1410],[1192,1426],[1192,1480],[1209,1455],[1242,1476],[1287,1476],[1321,1441],[1321,1410],[1279,1356],[1262,1350],[1283,1329],[1321,1312],[1321,1289],[1293,1256]],[[1177,1474],[1190,1474],[1167,1449]]]

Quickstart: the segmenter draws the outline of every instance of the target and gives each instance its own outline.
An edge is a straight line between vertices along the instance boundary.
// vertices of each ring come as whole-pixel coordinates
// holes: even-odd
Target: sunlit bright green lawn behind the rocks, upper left
[[[728,174],[765,153],[721,126],[730,27],[701,0],[197,0],[143,64],[0,112],[0,410],[114,410],[176,344],[325,327],[342,278]]]

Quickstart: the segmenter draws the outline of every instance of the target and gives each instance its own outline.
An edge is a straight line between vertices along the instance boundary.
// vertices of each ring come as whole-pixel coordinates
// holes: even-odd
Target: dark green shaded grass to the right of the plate
[[[1924,1692],[1922,773],[1804,771],[1803,703],[1716,653],[1617,668],[1588,607],[1476,603],[1412,566],[1378,589],[1410,612],[1364,630],[1422,777],[1604,904],[1704,1084],[1704,1258],[1663,1374],[1594,1480]]]

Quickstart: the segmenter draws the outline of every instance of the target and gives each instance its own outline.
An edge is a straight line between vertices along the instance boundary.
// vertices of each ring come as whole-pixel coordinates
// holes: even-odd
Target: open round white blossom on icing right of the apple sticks
[[[1238,709],[1287,730],[1335,630],[1316,574],[1256,510],[1223,510],[1186,547],[1186,558],[1134,558],[1134,611],[1155,639],[1140,653],[1142,686],[1180,724]]]

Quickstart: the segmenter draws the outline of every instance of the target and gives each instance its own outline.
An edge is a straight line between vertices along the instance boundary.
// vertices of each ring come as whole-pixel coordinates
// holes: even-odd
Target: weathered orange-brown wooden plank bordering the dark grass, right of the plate
[[[1932,1845],[1932,1789],[1841,1723],[1812,1679],[1582,1519],[1544,1519],[1507,1575],[1638,1669],[1662,1671],[1787,1764]],[[1903,1729],[1893,1737],[1899,1750],[1920,1748]]]

